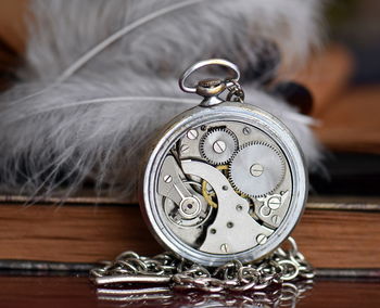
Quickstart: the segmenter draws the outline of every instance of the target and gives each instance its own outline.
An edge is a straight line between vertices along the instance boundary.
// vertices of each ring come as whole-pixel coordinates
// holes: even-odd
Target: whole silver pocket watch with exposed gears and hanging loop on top
[[[225,79],[189,77],[224,66]],[[278,118],[244,103],[238,67],[212,59],[179,80],[200,104],[175,117],[151,143],[140,207],[155,239],[193,262],[217,267],[275,251],[297,223],[307,198],[303,154]]]

